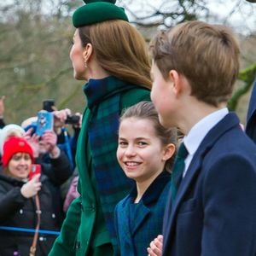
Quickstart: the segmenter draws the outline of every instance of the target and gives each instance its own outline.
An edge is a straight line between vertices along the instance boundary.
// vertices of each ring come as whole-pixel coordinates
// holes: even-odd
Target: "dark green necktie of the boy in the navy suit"
[[[171,180],[172,202],[175,200],[178,186],[182,181],[183,171],[185,168],[185,159],[188,156],[188,154],[189,152],[185,147],[184,143],[181,143],[177,151],[177,156],[174,162],[174,166],[172,168],[172,180]]]

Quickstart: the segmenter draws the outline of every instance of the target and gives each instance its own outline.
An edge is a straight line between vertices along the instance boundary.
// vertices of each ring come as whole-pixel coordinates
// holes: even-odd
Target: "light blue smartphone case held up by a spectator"
[[[36,133],[39,137],[44,134],[46,130],[53,130],[54,125],[54,115],[51,112],[38,112],[38,122]]]

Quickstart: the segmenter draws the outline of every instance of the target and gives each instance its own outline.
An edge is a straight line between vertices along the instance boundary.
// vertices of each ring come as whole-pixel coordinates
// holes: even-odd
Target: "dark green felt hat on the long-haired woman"
[[[116,6],[115,0],[84,0],[84,6],[73,14],[73,26],[86,26],[105,20],[129,21],[125,10]]]

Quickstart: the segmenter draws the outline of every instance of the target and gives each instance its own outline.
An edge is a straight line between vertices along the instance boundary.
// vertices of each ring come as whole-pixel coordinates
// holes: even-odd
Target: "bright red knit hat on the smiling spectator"
[[[9,160],[11,160],[13,155],[16,153],[29,154],[32,162],[34,161],[32,147],[23,137],[9,137],[9,139],[3,143],[3,167],[8,165]]]

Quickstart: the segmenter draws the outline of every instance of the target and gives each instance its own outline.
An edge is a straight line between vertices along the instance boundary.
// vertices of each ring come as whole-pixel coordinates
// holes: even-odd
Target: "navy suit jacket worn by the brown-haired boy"
[[[203,139],[171,204],[164,256],[256,255],[256,147],[235,113]]]

